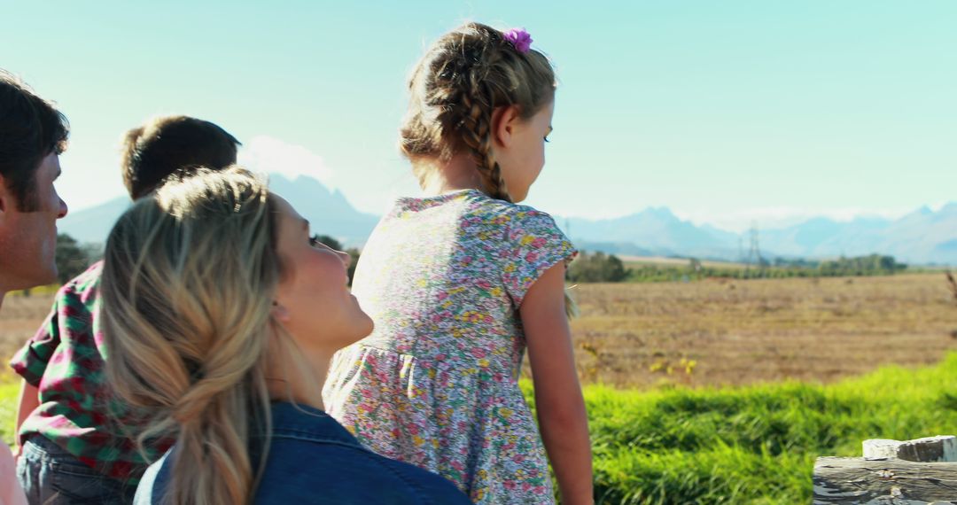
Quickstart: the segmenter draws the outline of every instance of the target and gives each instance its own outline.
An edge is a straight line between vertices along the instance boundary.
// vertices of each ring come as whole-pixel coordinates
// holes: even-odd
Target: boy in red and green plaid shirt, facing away
[[[147,121],[124,136],[123,181],[137,200],[172,174],[233,165],[238,144],[210,121]],[[148,463],[172,443],[161,437],[141,453],[130,427],[145,420],[113,400],[104,382],[101,273],[98,262],[60,288],[50,316],[11,361],[24,380],[17,476],[32,503],[128,503]]]

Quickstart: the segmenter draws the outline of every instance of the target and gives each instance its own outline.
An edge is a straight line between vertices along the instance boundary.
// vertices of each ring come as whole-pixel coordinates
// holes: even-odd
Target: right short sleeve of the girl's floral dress
[[[516,307],[542,274],[559,262],[566,266],[578,253],[555,220],[545,212],[520,211],[509,221],[501,253],[501,279]]]

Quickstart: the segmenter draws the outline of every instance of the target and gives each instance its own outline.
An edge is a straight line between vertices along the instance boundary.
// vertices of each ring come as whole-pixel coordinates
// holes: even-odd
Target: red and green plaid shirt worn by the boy
[[[111,398],[103,371],[103,336],[98,262],[56,293],[46,322],[11,361],[13,370],[39,389],[40,405],[20,427],[20,440],[37,434],[111,477],[135,483],[148,463],[136,447],[133,412]],[[111,412],[112,415],[108,415]],[[114,419],[122,420],[125,428]],[[158,459],[172,440],[151,444],[146,456]]]

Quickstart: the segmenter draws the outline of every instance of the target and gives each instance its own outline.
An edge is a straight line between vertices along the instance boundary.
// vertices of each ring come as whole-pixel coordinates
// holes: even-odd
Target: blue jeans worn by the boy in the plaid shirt
[[[42,436],[24,444],[16,476],[31,505],[121,505],[136,493],[136,486],[97,472]]]

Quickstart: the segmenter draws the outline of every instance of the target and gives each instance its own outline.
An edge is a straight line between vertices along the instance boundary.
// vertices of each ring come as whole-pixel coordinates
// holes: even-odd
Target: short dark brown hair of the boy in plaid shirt
[[[133,200],[144,197],[170,175],[205,166],[222,169],[236,163],[240,145],[210,121],[167,116],[126,132],[122,145],[122,182]]]

